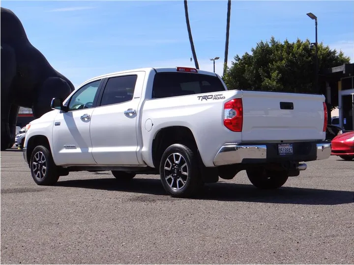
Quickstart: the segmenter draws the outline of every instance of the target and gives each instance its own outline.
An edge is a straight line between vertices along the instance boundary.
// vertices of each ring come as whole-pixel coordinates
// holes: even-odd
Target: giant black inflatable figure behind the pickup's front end
[[[1,7],[1,150],[14,144],[20,106],[34,118],[51,110],[52,98],[65,99],[74,86],[34,48],[18,17]]]

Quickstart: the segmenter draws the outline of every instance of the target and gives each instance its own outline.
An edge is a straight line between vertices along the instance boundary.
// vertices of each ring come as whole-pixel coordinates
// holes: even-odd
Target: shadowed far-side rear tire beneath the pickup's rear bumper
[[[261,189],[276,189],[284,185],[289,176],[287,171],[272,171],[262,167],[246,169],[250,182]]]

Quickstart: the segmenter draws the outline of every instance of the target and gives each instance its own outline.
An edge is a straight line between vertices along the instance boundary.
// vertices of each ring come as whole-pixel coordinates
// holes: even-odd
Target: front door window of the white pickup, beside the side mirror
[[[100,82],[101,80],[93,81],[79,88],[70,99],[69,110],[92,107]]]

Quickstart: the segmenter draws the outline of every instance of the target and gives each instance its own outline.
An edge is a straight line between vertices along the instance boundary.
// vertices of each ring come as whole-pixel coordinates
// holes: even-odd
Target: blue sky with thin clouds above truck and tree
[[[75,86],[92,77],[140,67],[194,66],[182,0],[2,0],[23,23],[29,41]],[[222,74],[227,1],[189,0],[200,68]],[[354,61],[354,1],[232,1],[229,64],[271,36],[315,41]]]

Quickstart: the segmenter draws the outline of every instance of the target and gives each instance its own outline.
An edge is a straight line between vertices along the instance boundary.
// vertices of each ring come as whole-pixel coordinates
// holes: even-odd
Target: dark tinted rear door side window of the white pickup
[[[103,91],[101,106],[131,101],[137,78],[137,75],[131,75],[108,79]]]

